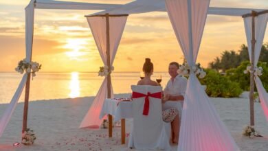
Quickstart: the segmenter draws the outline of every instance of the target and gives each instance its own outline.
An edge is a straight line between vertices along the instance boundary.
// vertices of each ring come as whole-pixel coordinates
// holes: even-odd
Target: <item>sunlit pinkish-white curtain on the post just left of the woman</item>
[[[115,54],[118,50],[127,16],[109,16],[109,42],[110,42],[110,65],[113,65]],[[87,21],[93,34],[94,40],[100,52],[102,62],[107,64],[107,21],[105,16],[88,16]],[[100,65],[102,66],[102,65]],[[104,78],[100,90],[98,91],[93,103],[91,104],[87,115],[80,124],[80,128],[98,128],[102,119],[99,119],[102,104],[107,98],[107,77]],[[113,97],[113,86],[111,85],[111,97]]]

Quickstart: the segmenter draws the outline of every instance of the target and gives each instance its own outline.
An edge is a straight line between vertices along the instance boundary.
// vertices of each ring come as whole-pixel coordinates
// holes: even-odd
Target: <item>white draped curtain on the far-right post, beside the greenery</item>
[[[256,43],[254,48],[254,66],[257,67],[258,59],[260,57],[260,51],[263,45],[263,38],[265,36],[265,30],[268,21],[268,13],[260,14],[259,16],[255,16],[255,37]],[[252,62],[252,16],[244,18],[245,25],[245,33],[247,36],[247,49],[249,51],[249,59]],[[258,95],[260,97],[260,104],[263,108],[263,112],[265,113],[265,117],[268,121],[268,94],[263,87],[260,78],[255,75],[256,87],[258,90]]]

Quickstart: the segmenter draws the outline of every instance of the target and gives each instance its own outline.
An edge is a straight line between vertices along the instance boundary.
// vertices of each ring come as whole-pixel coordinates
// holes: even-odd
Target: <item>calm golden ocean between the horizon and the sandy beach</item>
[[[166,86],[166,82],[170,79],[168,72],[155,72],[152,80],[156,80],[160,75],[161,85]],[[20,73],[0,73],[0,104],[10,102],[21,78]],[[131,93],[131,85],[137,84],[139,79],[139,72],[113,72],[111,74],[113,92]],[[38,72],[30,82],[30,101],[95,96],[103,80],[104,77],[98,76],[95,72]],[[25,91],[21,94],[19,102],[23,102],[24,95]]]

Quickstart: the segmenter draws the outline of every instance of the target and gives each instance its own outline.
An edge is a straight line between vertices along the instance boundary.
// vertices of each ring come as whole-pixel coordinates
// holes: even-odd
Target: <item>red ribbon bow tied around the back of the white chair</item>
[[[146,94],[142,94],[142,93],[138,93],[138,92],[133,92],[132,93],[132,98],[136,99],[139,97],[145,97],[145,102],[144,102],[144,111],[143,111],[143,115],[148,115],[149,113],[149,107],[150,107],[150,102],[149,102],[149,97],[155,97],[157,99],[161,99],[161,92],[157,92],[157,93],[150,93],[148,92],[147,95]]]

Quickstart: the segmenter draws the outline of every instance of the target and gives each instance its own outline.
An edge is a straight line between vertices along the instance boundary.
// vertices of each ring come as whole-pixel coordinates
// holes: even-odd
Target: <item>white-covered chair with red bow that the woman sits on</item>
[[[131,89],[133,91],[133,126],[129,148],[170,150],[170,123],[162,120],[161,86],[131,86]],[[139,96],[135,97],[137,93]],[[144,108],[146,95],[149,95],[148,111]],[[158,98],[153,95],[157,95]]]

